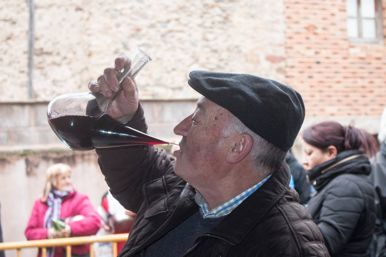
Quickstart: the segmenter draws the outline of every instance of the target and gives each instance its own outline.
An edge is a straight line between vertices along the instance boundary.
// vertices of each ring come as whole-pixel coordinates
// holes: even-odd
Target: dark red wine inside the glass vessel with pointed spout
[[[76,151],[139,144],[169,144],[125,126],[107,114],[100,117],[63,115],[48,119],[56,135]]]

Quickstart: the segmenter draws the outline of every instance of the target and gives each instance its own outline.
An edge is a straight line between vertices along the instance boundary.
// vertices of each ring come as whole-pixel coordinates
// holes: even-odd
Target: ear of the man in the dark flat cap
[[[253,145],[252,137],[249,134],[240,134],[235,137],[232,145],[225,155],[227,163],[238,163],[243,160],[251,151]]]

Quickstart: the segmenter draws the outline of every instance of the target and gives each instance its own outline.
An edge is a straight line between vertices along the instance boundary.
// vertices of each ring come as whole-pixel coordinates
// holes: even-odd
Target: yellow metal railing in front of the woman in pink
[[[90,257],[94,257],[93,243],[100,242],[112,242],[113,243],[113,256],[117,256],[117,242],[123,242],[127,240],[128,233],[115,234],[115,235],[91,235],[88,237],[66,237],[57,239],[43,239],[43,240],[30,240],[20,242],[6,242],[0,243],[1,250],[17,250],[17,257],[21,257],[21,249],[23,248],[41,248],[42,257],[46,257],[47,248],[54,246],[66,246],[66,257],[71,257],[72,245],[90,245]]]

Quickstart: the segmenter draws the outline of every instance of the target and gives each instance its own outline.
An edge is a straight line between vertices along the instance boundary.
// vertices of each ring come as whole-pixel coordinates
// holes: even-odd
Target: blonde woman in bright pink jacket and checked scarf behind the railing
[[[47,169],[43,197],[35,201],[25,229],[25,237],[28,240],[80,237],[95,235],[98,232],[101,226],[100,216],[88,197],[73,189],[70,176],[70,166],[63,163],[51,165]],[[66,226],[56,231],[52,220],[66,220]],[[89,256],[89,246],[73,246],[71,254]],[[65,255],[65,247],[47,249],[47,257]],[[40,250],[38,256],[41,256]]]

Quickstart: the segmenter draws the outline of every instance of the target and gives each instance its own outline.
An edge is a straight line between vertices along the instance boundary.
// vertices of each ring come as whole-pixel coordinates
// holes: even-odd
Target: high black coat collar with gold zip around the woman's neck
[[[308,180],[319,191],[333,178],[342,174],[369,175],[371,166],[364,151],[346,150],[336,158],[321,163],[307,172]]]

